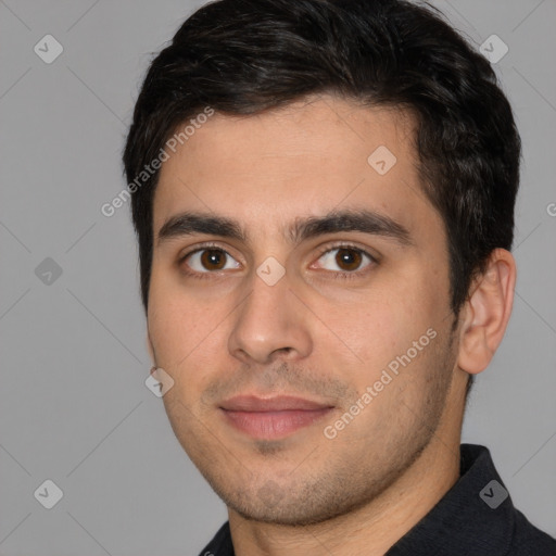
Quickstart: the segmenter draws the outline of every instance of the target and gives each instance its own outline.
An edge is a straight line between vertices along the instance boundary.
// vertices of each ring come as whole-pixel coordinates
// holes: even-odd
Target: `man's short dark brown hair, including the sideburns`
[[[128,184],[178,125],[333,93],[412,113],[422,188],[445,225],[457,316],[490,253],[509,250],[521,142],[491,64],[432,5],[404,0],[219,0],[153,60],[124,152]],[[159,172],[131,195],[148,308]]]

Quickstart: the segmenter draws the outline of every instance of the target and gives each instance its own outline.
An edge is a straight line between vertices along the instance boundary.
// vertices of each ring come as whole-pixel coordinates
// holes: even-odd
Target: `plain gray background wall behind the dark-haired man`
[[[151,53],[201,3],[0,0],[2,555],[193,555],[226,519],[144,386],[128,206],[100,212],[125,186]],[[556,535],[556,2],[435,5],[477,46],[508,46],[494,65],[525,148],[514,316],[464,441],[490,446],[515,504]],[[47,34],[64,49],[51,64],[34,52]],[[64,493],[50,510],[34,497],[46,479]]]

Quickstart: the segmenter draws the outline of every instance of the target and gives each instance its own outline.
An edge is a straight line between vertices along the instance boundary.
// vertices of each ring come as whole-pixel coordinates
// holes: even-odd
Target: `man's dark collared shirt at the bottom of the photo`
[[[489,448],[462,444],[459,480],[384,556],[556,556],[514,507]],[[226,522],[200,556],[235,556]]]

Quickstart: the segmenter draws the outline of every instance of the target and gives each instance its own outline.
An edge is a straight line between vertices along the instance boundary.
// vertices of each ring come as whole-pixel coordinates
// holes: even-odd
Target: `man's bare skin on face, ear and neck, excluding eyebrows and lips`
[[[492,253],[452,334],[446,233],[422,193],[413,134],[406,113],[323,96],[256,116],[215,114],[163,164],[148,341],[174,380],[163,397],[173,430],[228,506],[239,556],[384,554],[458,479],[468,374],[502,340],[516,269],[507,251]],[[384,175],[367,162],[379,146],[397,160]],[[296,218],[345,208],[389,216],[410,243],[362,231],[288,239]],[[185,211],[235,218],[249,241],[159,241]],[[207,241],[229,253],[224,267],[180,262]],[[377,262],[352,247],[361,264],[345,265],[338,242]],[[256,274],[269,256],[286,271],[274,286]],[[429,329],[434,339],[327,438],[325,427]],[[333,409],[283,439],[256,440],[223,418],[219,404],[236,394]]]

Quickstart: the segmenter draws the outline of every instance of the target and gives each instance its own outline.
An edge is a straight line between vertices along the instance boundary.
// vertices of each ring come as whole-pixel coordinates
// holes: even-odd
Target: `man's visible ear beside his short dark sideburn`
[[[457,364],[471,375],[484,370],[497,350],[514,305],[516,262],[495,249],[486,269],[473,280],[463,311]]]

